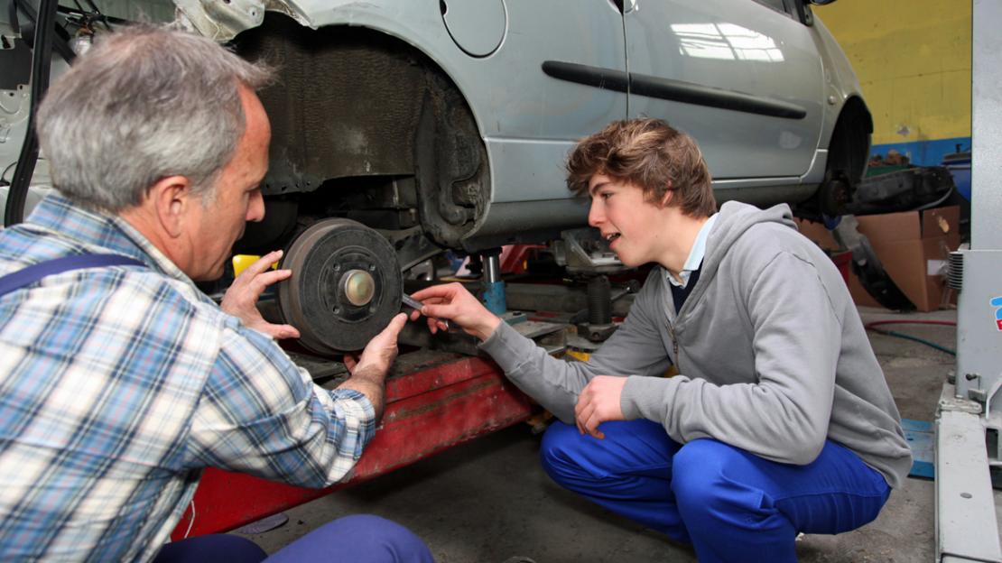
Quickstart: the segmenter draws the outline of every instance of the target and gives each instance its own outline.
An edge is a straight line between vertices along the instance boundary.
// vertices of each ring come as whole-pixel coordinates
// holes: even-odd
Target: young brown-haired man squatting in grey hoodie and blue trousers
[[[846,285],[790,207],[716,212],[695,143],[656,119],[612,123],[567,168],[622,262],[656,264],[589,362],[549,357],[458,284],[414,296],[561,421],[547,473],[703,562],[795,561],[799,532],[876,518],[911,453]]]

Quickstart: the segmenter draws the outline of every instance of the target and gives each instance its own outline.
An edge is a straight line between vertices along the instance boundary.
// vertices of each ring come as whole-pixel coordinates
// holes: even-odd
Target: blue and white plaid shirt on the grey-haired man
[[[0,275],[117,253],[0,299],[0,560],[146,561],[202,468],[306,487],[344,477],[373,406],[313,384],[121,218],[49,196],[0,231]]]

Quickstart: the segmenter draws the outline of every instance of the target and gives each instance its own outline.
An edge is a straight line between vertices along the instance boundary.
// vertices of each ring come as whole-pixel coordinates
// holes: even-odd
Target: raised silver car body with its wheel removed
[[[577,139],[660,117],[720,200],[836,213],[872,124],[803,0],[174,0],[179,22],[278,68],[265,223],[244,248],[343,216],[410,264],[585,222]],[[3,164],[3,162],[0,162]]]

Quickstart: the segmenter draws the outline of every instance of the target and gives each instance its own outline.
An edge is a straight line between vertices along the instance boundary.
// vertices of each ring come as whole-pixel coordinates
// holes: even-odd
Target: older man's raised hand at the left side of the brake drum
[[[258,311],[258,298],[277,282],[288,279],[291,269],[270,269],[282,257],[282,250],[273,250],[246,266],[222,296],[219,308],[239,319],[244,325],[273,339],[298,339],[300,332],[292,325],[273,325]]]

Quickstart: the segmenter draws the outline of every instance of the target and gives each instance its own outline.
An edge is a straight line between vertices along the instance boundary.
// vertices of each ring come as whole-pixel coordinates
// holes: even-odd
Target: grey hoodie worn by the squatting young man
[[[827,438],[901,485],[912,457],[898,408],[845,282],[788,205],[724,203],[681,311],[666,275],[651,271],[587,363],[551,358],[504,324],[481,346],[568,424],[592,377],[625,376],[625,418],[659,422],[681,444],[714,438],[805,465]],[[680,375],[659,377],[672,364]]]

